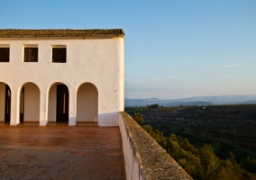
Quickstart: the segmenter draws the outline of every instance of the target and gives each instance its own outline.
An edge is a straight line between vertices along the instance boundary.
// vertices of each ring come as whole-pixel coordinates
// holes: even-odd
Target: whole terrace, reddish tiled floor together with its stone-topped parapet
[[[192,179],[125,112],[119,127],[3,123],[0,156],[6,179]]]

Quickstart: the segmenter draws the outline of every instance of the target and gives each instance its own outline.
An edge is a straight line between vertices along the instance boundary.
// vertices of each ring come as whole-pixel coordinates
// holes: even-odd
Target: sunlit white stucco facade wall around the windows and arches
[[[10,62],[0,63],[0,82],[9,85],[12,91],[12,125],[19,123],[19,92],[27,82],[40,88],[41,125],[53,116],[56,118],[46,111],[50,111],[48,104],[52,103],[48,102],[50,85],[56,82],[69,87],[69,125],[76,124],[77,91],[84,83],[92,83],[98,90],[98,124],[118,125],[118,112],[123,111],[124,105],[123,38],[8,38],[0,39],[1,44],[10,46]],[[38,46],[38,62],[23,62],[26,45]],[[51,63],[53,45],[67,47],[67,63]]]

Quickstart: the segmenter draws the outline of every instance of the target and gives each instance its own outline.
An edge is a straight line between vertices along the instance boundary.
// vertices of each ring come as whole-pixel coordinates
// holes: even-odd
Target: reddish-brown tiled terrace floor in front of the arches
[[[118,127],[0,126],[1,179],[125,179]]]

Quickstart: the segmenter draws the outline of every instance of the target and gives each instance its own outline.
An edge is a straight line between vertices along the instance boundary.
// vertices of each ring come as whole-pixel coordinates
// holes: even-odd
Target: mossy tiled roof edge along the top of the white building
[[[21,29],[0,29],[0,38],[8,37],[81,37],[81,36],[123,36],[123,29],[96,29],[96,30],[71,30],[71,29],[59,29],[59,30],[21,30]]]

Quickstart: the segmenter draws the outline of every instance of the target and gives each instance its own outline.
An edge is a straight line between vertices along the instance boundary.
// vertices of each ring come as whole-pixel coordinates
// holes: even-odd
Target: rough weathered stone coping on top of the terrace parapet
[[[139,164],[140,179],[192,179],[130,115],[120,113],[133,148],[133,157],[137,158]]]

